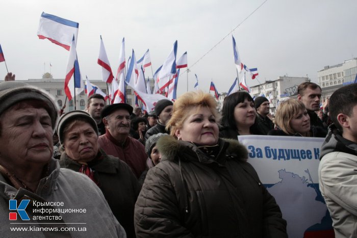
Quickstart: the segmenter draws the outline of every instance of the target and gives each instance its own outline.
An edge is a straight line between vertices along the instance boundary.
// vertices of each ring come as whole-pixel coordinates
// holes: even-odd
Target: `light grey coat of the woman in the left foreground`
[[[0,174],[0,237],[126,237],[124,229],[115,219],[103,193],[93,181],[84,174],[69,169],[60,169],[58,160],[54,158],[49,161],[48,166],[49,175],[40,180],[35,193],[22,188],[14,188]],[[25,208],[30,220],[22,221],[17,214],[16,221],[9,221],[10,199],[16,199],[17,206],[22,199],[30,199],[30,203]],[[34,202],[55,202],[55,205],[35,206]],[[60,205],[61,202],[63,205]],[[59,211],[42,213],[34,210],[41,208],[44,208],[44,211],[46,209],[58,209]],[[78,211],[75,211],[76,209]],[[86,209],[86,211],[84,212],[83,209]],[[16,210],[14,212],[16,213]],[[33,216],[50,218],[35,220]],[[51,219],[53,216],[61,216],[62,220]],[[11,222],[20,224],[10,224]],[[16,227],[28,230],[11,230]],[[65,229],[76,228],[77,230],[70,230],[69,232],[49,231],[49,229],[60,229],[61,227]],[[83,231],[84,228],[86,228],[86,231]],[[36,231],[35,229],[42,229],[43,231]]]

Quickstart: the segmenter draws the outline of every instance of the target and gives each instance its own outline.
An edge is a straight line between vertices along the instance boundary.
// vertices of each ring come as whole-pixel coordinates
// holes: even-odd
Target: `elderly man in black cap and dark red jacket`
[[[98,138],[100,148],[129,165],[137,178],[146,169],[145,147],[129,136],[133,107],[126,103],[107,105],[101,112],[106,134]]]

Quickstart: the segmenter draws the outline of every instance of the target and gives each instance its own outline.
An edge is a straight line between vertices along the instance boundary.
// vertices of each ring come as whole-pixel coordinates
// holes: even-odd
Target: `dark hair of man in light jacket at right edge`
[[[357,104],[357,84],[350,84],[336,90],[328,102],[331,120],[342,132],[342,126],[337,120],[337,115],[343,113],[351,116],[353,107]]]

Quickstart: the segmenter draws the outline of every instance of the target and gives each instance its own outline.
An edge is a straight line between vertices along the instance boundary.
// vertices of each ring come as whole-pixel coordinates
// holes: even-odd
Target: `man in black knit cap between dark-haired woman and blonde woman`
[[[254,107],[257,110],[256,123],[262,135],[268,135],[268,132],[274,129],[274,123],[268,117],[269,100],[266,97],[257,97],[254,100]]]

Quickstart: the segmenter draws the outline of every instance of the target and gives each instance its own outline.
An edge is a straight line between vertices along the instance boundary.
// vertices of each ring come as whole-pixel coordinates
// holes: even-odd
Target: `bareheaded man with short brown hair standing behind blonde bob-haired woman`
[[[321,88],[315,83],[304,82],[297,87],[297,99],[300,100],[308,110],[310,125],[313,130],[322,130],[322,137],[327,134],[327,129],[323,122],[315,113],[320,110]]]

